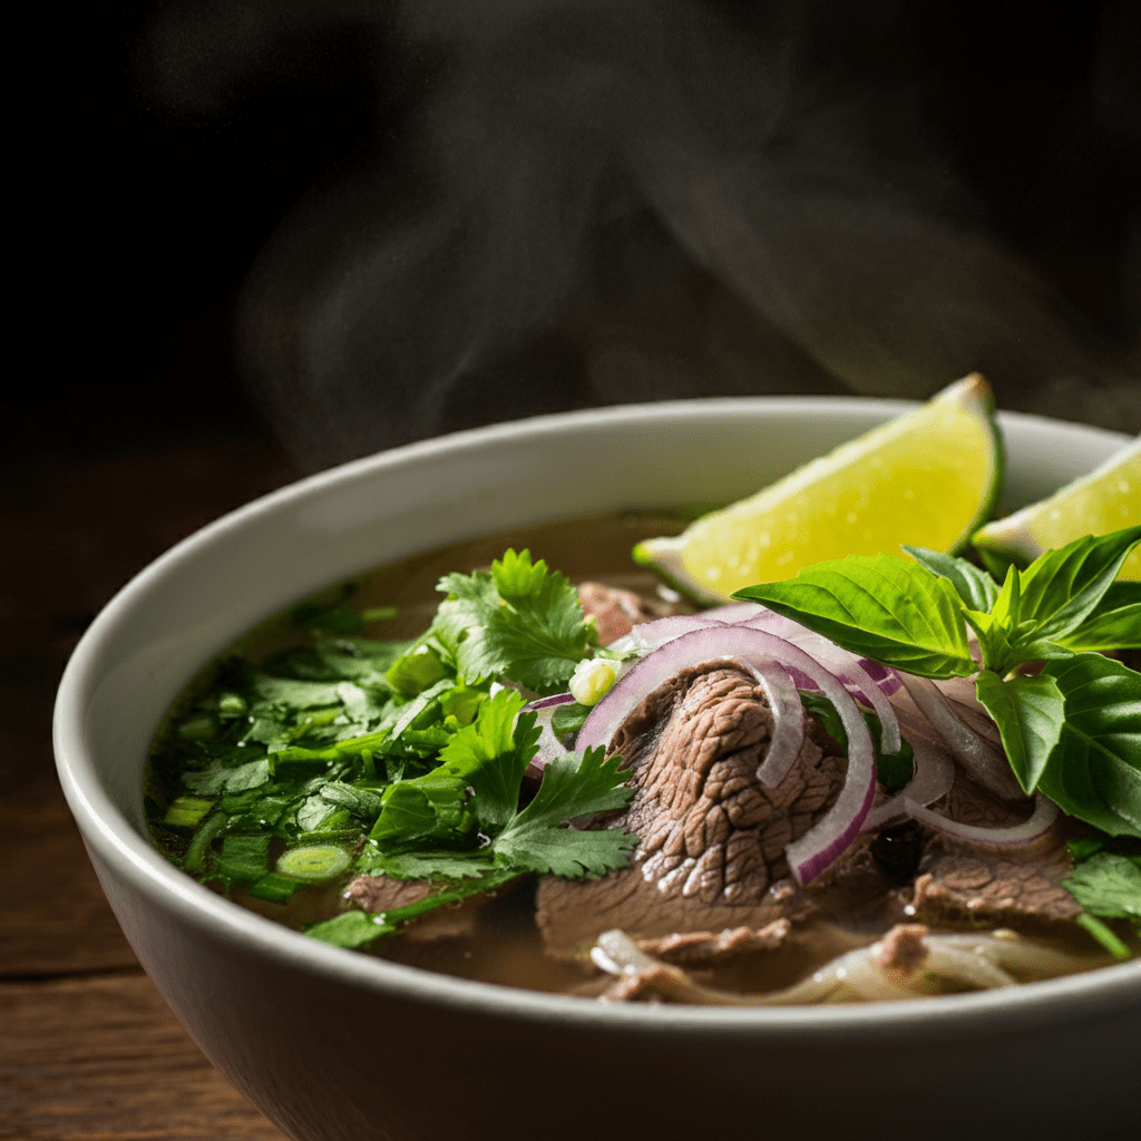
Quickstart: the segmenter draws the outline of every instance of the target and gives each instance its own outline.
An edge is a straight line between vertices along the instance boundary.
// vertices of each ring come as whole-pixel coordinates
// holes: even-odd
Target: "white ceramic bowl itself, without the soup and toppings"
[[[267,615],[375,564],[480,533],[737,497],[906,407],[714,399],[461,432],[258,500],[115,597],[59,689],[59,775],[131,946],[234,1085],[307,1141],[1009,1141],[1100,1135],[1130,1119],[1141,1059],[1138,962],[913,1003],[604,1005],[309,940],[200,887],[145,839],[140,777],[163,711]],[[1125,442],[1025,415],[1002,424],[1005,509]]]

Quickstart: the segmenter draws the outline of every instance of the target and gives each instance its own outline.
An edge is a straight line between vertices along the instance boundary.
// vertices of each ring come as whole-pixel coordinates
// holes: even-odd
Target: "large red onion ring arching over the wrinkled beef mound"
[[[818,876],[859,835],[875,799],[872,736],[855,699],[823,665],[798,646],[744,625],[693,630],[648,654],[594,706],[576,742],[580,748],[607,746],[650,693],[686,666],[698,662],[741,662],[746,666],[775,659],[807,675],[832,702],[848,735],[848,772],[831,809],[785,849],[793,875],[804,884]]]

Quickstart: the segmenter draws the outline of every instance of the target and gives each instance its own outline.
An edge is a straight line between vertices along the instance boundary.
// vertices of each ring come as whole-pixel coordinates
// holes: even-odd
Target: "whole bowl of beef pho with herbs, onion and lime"
[[[58,767],[222,1074],[305,1141],[1127,1122],[1141,480],[1061,553],[1014,512],[1135,445],[976,408],[953,492],[970,448],[926,407],[463,431],[131,581],[68,664]],[[890,553],[830,553],[859,515],[830,478]],[[989,517],[1039,549],[972,547]]]

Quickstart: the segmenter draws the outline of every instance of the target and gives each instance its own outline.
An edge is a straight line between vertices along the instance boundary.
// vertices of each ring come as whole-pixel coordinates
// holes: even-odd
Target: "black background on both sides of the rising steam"
[[[204,94],[181,100],[149,72],[156,13],[196,9],[209,24],[213,8],[228,29],[265,5],[94,2],[10,17],[9,447],[257,426],[230,347],[254,254],[307,189],[398,139],[430,83],[431,60],[402,55],[395,34],[386,42],[383,19],[355,15],[386,7],[283,3],[264,58],[226,74],[208,60],[195,73]],[[1128,346],[1139,6],[1073,0],[1034,18],[871,7],[897,9],[907,66],[917,57],[928,76],[926,118],[1003,240],[1097,338]],[[842,48],[884,66],[856,39]],[[378,58],[390,66],[370,70]]]

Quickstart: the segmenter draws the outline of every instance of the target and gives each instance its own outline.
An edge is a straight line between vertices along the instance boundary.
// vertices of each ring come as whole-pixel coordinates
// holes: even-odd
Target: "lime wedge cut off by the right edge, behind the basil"
[[[971,541],[984,558],[1023,566],[1083,535],[1104,535],[1139,523],[1141,437],[1049,499],[988,523]],[[1141,548],[1133,549],[1117,577],[1141,581]]]

